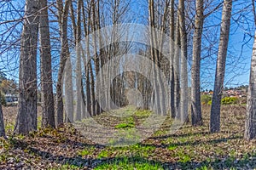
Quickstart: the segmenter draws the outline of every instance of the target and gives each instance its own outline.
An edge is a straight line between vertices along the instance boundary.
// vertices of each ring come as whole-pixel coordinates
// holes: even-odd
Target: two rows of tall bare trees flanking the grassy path
[[[204,24],[207,17],[222,7],[210,122],[210,131],[212,133],[219,132],[220,105],[224,89],[233,1],[224,0],[223,3],[218,3],[213,8],[209,8],[209,3],[196,0],[195,5],[191,5],[184,0],[177,2],[174,0],[148,0],[148,26],[150,28],[148,43],[150,47],[137,45],[139,51],[137,54],[145,55],[153,63],[150,65],[152,73],[149,77],[153,77],[154,81],[150,82],[146,75],[134,71],[124,71],[125,66],[131,62],[131,58],[124,60],[116,58],[119,55],[127,54],[132,48],[129,41],[117,41],[121,39],[122,31],[120,29],[111,32],[111,36],[107,36],[107,38],[102,34],[97,36],[91,34],[105,26],[114,26],[127,21],[128,11],[131,7],[130,1],[112,0],[104,3],[100,0],[78,0],[77,2],[56,0],[49,6],[47,0],[26,0],[20,39],[20,98],[15,133],[29,133],[37,130],[38,55],[40,56],[40,88],[43,108],[42,127],[59,127],[64,122],[80,121],[84,117],[96,116],[102,111],[115,109],[116,105],[128,105],[131,101],[127,101],[127,89],[133,88],[137,88],[142,96],[139,107],[153,109],[161,115],[170,111],[170,116],[181,122],[188,121],[188,113],[191,111],[192,125],[201,126],[203,123],[201,115],[201,54],[203,49],[201,44],[204,36]],[[192,8],[189,8],[190,6]],[[256,20],[254,2],[252,6]],[[54,16],[49,17],[49,11]],[[54,78],[52,76],[52,42],[55,40],[51,39],[51,26],[58,26],[58,39],[60,40],[58,44],[61,46],[57,81],[55,82],[56,99],[53,93]],[[69,29],[70,27],[72,29]],[[158,31],[154,31],[154,29]],[[166,42],[163,34],[168,34],[172,40],[168,47],[168,59],[166,59],[162,48]],[[85,39],[85,46],[81,45],[83,36],[90,36]],[[113,39],[113,41],[109,43],[108,39]],[[255,41],[247,104],[245,133],[247,139],[253,139],[256,136],[256,114],[253,103],[254,88],[256,88],[253,83],[255,81],[255,73],[253,73]],[[75,68],[70,48],[75,48]],[[39,54],[37,49],[40,51]],[[190,102],[188,99],[189,50],[192,52]],[[112,59],[114,63],[119,63],[121,66],[118,64],[118,66],[108,65],[108,68],[105,69],[104,65]],[[100,74],[101,72],[103,75]],[[112,80],[112,75],[118,72],[121,73]],[[161,77],[161,72],[164,72],[166,77]],[[100,76],[97,77],[97,75]],[[73,77],[76,77],[75,81],[73,81]],[[101,88],[105,89],[104,93],[100,91],[101,88],[96,87],[99,85],[96,82],[100,82]],[[170,88],[169,92],[166,92],[164,82],[167,82]],[[165,95],[165,93],[170,95]],[[1,135],[4,135],[1,107],[0,132],[2,132]]]

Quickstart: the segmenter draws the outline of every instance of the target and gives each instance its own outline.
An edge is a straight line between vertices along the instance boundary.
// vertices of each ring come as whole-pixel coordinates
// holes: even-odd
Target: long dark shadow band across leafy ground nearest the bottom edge
[[[227,156],[224,158],[224,160],[220,160],[218,158],[215,158],[212,161],[176,161],[176,162],[163,162],[163,161],[156,161],[152,159],[148,159],[142,156],[118,156],[118,157],[110,157],[110,158],[82,158],[80,156],[73,156],[73,157],[65,157],[65,156],[53,156],[49,152],[44,152],[41,150],[31,149],[31,151],[41,156],[43,159],[48,159],[49,157],[51,159],[54,158],[54,160],[57,163],[60,163],[62,165],[71,165],[75,167],[80,168],[95,168],[101,165],[106,164],[114,164],[119,165],[119,162],[127,162],[130,164],[142,164],[147,163],[149,165],[158,165],[158,167],[163,167],[164,169],[187,169],[187,168],[201,168],[201,167],[212,167],[216,169],[226,169],[230,167],[247,167],[247,168],[255,168],[256,167],[256,161],[252,161],[250,159],[244,159],[240,161],[236,161],[236,158],[232,156]],[[255,154],[252,156],[256,156]]]

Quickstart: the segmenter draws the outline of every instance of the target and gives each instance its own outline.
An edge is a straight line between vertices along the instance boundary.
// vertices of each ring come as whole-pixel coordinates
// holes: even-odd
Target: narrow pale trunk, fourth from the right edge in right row
[[[187,68],[187,32],[185,23],[184,0],[178,1],[180,43],[181,43],[181,78],[180,78],[180,114],[181,122],[188,120],[188,68]]]

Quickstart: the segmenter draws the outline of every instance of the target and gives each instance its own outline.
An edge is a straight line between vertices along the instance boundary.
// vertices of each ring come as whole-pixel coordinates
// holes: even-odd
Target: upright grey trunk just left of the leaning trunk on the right
[[[191,119],[193,126],[202,125],[201,117],[201,35],[204,23],[204,2],[196,0],[195,2],[195,31],[193,37],[193,64],[191,69]]]

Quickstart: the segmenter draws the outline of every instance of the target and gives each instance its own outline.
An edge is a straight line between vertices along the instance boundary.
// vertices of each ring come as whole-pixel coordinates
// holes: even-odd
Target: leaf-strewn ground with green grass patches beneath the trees
[[[210,106],[203,105],[204,126],[188,123],[172,134],[172,120],[166,119],[148,139],[119,147],[96,144],[71,125],[12,136],[15,110],[3,108],[8,139],[0,139],[0,169],[256,168],[256,140],[243,139],[246,107],[242,105],[222,106],[220,133],[208,133]],[[102,114],[94,120],[129,132],[151,114],[129,111],[128,116]]]

